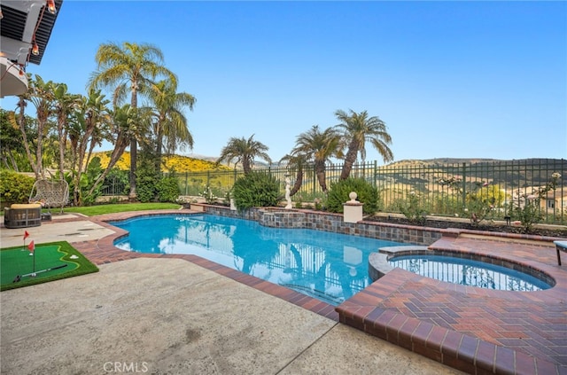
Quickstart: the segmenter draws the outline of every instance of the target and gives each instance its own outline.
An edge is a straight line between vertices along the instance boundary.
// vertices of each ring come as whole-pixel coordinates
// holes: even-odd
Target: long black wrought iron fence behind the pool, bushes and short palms
[[[338,182],[342,164],[328,164],[325,180],[328,186]],[[284,189],[285,177],[291,184],[297,169],[286,167],[257,168],[275,176]],[[355,164],[352,177],[361,177],[380,193],[380,210],[400,213],[409,198],[430,215],[470,217],[478,202],[490,202],[486,219],[505,219],[514,205],[525,204],[525,197],[536,194],[553,179],[561,177],[555,189],[540,199],[540,214],[547,223],[567,223],[567,160],[531,159],[511,161],[479,161],[473,163],[425,164],[397,163],[377,166],[376,161]],[[241,169],[209,170],[175,174],[182,195],[199,196],[208,186],[219,198],[226,197]],[[296,204],[324,200],[325,194],[317,181],[314,166],[304,168],[301,188],[291,199]]]

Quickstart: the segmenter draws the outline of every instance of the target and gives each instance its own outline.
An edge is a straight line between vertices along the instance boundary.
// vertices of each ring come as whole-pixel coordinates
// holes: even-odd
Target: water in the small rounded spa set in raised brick
[[[392,267],[399,267],[424,277],[485,289],[532,292],[551,287],[524,272],[471,259],[441,255],[408,255],[397,256],[388,262]]]

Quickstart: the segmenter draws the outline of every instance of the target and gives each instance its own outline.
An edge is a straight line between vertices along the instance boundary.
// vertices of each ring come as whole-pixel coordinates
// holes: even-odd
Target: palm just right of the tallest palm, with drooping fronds
[[[193,148],[193,136],[187,126],[183,108],[193,110],[195,97],[187,92],[176,92],[174,82],[160,81],[151,88],[150,100],[153,103],[153,136],[156,139],[156,171],[161,170],[161,156],[164,147],[172,153],[178,147],[188,145]]]

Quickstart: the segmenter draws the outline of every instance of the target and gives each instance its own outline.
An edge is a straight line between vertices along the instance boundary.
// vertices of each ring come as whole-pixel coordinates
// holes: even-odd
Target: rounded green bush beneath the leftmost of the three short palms
[[[239,177],[232,193],[237,209],[273,207],[277,205],[280,184],[274,176],[261,172],[250,172]]]

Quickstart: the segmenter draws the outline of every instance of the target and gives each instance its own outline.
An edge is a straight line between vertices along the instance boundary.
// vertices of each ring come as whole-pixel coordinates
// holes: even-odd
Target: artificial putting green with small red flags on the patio
[[[0,290],[98,271],[96,265],[66,241],[35,245],[33,255],[30,254],[23,245],[0,250]],[[15,281],[18,277],[19,281]]]

